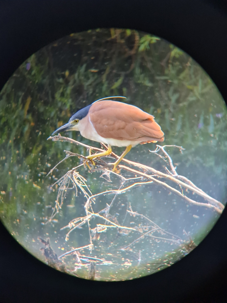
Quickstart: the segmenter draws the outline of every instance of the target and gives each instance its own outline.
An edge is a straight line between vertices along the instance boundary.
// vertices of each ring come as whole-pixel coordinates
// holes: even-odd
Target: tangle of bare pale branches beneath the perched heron
[[[61,135],[58,136],[53,136],[49,137],[48,140],[52,141],[63,141],[63,142],[70,142],[75,145],[81,145],[85,147],[87,150],[94,152],[102,152],[103,149],[92,147],[86,144],[83,144],[81,142],[75,141],[71,138],[63,137]],[[102,144],[103,148],[107,149],[107,146]],[[135,234],[138,234],[138,236],[133,240],[131,243],[125,245],[124,247],[121,247],[120,249],[122,251],[126,251],[131,248],[131,246],[134,243],[138,243],[141,239],[148,238],[152,239],[153,241],[164,241],[168,242],[170,244],[176,244],[179,247],[182,247],[182,251],[185,251],[185,253],[188,253],[191,251],[196,245],[192,241],[192,239],[189,238],[189,241],[184,241],[182,240],[179,236],[173,235],[164,229],[160,228],[155,222],[151,221],[149,218],[144,216],[143,214],[139,214],[137,212],[134,212],[130,203],[129,203],[129,209],[127,209],[127,214],[130,216],[139,216],[141,220],[145,220],[147,223],[149,222],[148,225],[143,225],[140,224],[140,226],[125,226],[125,225],[120,225],[116,218],[113,218],[113,216],[110,215],[110,209],[113,206],[113,203],[115,201],[115,198],[117,195],[120,195],[122,193],[125,193],[129,191],[133,187],[137,186],[146,186],[148,184],[156,184],[159,185],[160,187],[168,190],[169,192],[173,193],[174,195],[179,196],[182,201],[185,201],[189,205],[195,205],[197,207],[202,207],[206,209],[210,209],[211,211],[217,212],[219,215],[222,213],[224,209],[224,205],[217,201],[216,199],[212,198],[208,194],[206,194],[202,189],[198,188],[195,184],[192,183],[188,178],[178,175],[176,172],[176,168],[173,166],[173,161],[169,154],[166,152],[165,148],[166,147],[176,147],[179,149],[179,151],[182,153],[184,150],[183,147],[181,146],[176,146],[176,145],[156,145],[156,150],[155,151],[150,151],[153,154],[156,154],[160,158],[162,158],[170,167],[170,170],[165,167],[166,173],[163,173],[161,171],[157,171],[156,169],[137,163],[133,161],[129,161],[126,159],[122,159],[120,165],[118,165],[118,171],[113,172],[112,171],[112,165],[110,163],[107,163],[105,160],[106,156],[104,157],[97,157],[93,159],[93,163],[91,161],[87,161],[85,156],[79,155],[76,153],[73,153],[71,151],[65,151],[66,157],[61,160],[57,165],[54,166],[54,168],[51,169],[49,174],[53,172],[53,170],[64,160],[66,160],[69,157],[78,157],[84,163],[72,168],[71,170],[67,171],[67,173],[62,176],[58,181],[56,181],[53,185],[58,187],[58,194],[57,198],[55,201],[55,206],[52,212],[51,217],[49,218],[50,222],[59,212],[61,209],[64,198],[67,195],[67,191],[69,188],[74,188],[76,191],[76,195],[78,191],[81,191],[84,194],[84,197],[86,199],[86,203],[84,206],[84,216],[83,217],[78,217],[74,218],[71,220],[66,226],[62,227],[61,230],[63,229],[69,229],[69,231],[66,234],[66,241],[68,240],[70,233],[74,231],[76,228],[80,228],[84,224],[88,226],[88,233],[89,233],[89,238],[90,241],[87,245],[79,248],[74,248],[71,251],[68,251],[64,253],[63,255],[58,257],[58,260],[60,260],[63,257],[66,257],[67,255],[71,254],[76,254],[77,255],[77,260],[78,260],[78,266],[83,265],[83,259],[85,260],[90,260],[90,274],[89,278],[94,279],[95,275],[95,264],[111,264],[112,262],[106,261],[105,259],[100,259],[100,258],[93,258],[93,257],[88,257],[88,256],[82,256],[80,255],[81,250],[83,249],[89,249],[90,252],[92,249],[94,249],[93,241],[97,240],[100,237],[100,233],[107,231],[108,228],[116,228],[118,232],[127,234],[133,231]],[[161,155],[161,152],[163,155]],[[108,158],[113,158],[115,161],[119,156],[117,156],[115,153],[111,153]],[[95,163],[95,165],[93,165]],[[90,172],[94,171],[99,171],[100,172],[100,177],[106,179],[107,181],[111,182],[111,176],[114,175],[114,177],[119,178],[120,181],[120,186],[118,189],[114,190],[107,190],[107,191],[102,191],[97,194],[92,194],[90,191],[88,185],[87,185],[87,180],[81,175],[79,172],[80,168],[83,168],[85,165],[90,168]],[[123,172],[127,172],[130,174],[130,178],[125,178],[123,176]],[[171,181],[177,185],[179,185],[179,190],[172,187],[171,185],[167,184],[166,181]],[[171,183],[168,182],[168,183]],[[188,193],[192,192],[193,194],[196,194],[200,197],[203,198],[203,202],[193,200],[188,197]],[[111,203],[106,205],[105,208],[100,209],[98,212],[94,212],[92,209],[92,204],[95,204],[95,199],[100,196],[104,195],[113,195],[113,199]],[[96,225],[95,228],[90,227],[90,222],[92,219],[97,218],[100,223]],[[47,223],[48,223],[47,222]],[[185,232],[186,234],[186,232]],[[187,234],[186,234],[187,235]],[[82,260],[81,260],[82,259]],[[140,260],[140,257],[139,259]]]

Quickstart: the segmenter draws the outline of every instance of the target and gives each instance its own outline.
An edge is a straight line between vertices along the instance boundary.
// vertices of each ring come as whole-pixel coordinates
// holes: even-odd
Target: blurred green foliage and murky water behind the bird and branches
[[[45,225],[57,195],[57,189],[49,186],[80,160],[69,158],[50,176],[47,173],[65,157],[64,149],[87,155],[81,146],[47,138],[79,109],[114,95],[125,96],[123,102],[154,115],[165,133],[161,145],[185,148],[183,155],[176,148],[166,149],[178,174],[226,203],[227,111],[206,72],[179,48],[143,32],[111,28],[71,34],[28,58],[0,93],[0,218],[23,246],[43,261],[38,236],[49,237],[58,256],[89,244],[85,226],[73,231],[68,241],[66,231],[60,231],[69,221],[84,215],[83,195],[67,195],[54,221]],[[100,147],[77,132],[62,135]],[[126,158],[165,172],[166,163],[149,151],[155,148],[155,144],[137,146]],[[123,150],[113,147],[118,155]],[[99,173],[90,174],[84,168],[81,175],[93,193],[118,186],[117,181],[110,184],[99,178]],[[187,240],[185,230],[197,245],[219,217],[205,208],[188,207],[179,197],[156,185],[135,188],[119,197],[111,210],[118,222],[127,226],[140,223],[126,216],[130,202],[133,211]],[[110,204],[112,198],[100,199],[96,207]],[[196,195],[193,199],[204,201]],[[97,279],[147,275],[167,266],[163,261],[166,256],[174,262],[185,254],[182,247],[150,240],[136,243],[130,252],[120,251],[135,238],[136,235],[123,235],[116,230],[100,234],[93,254],[113,265],[99,266]],[[90,255],[89,251],[84,253]],[[69,267],[74,266],[73,256],[64,261]],[[88,270],[77,269],[77,274],[87,278]]]

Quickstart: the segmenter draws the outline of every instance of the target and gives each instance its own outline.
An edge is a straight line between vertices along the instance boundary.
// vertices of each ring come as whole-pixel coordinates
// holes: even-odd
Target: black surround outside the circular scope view
[[[227,3],[205,0],[0,2],[0,90],[48,43],[91,28],[135,28],[192,56],[227,100]],[[0,134],[1,135],[1,134]],[[202,243],[154,275],[123,282],[75,278],[41,263],[0,222],[0,302],[226,302],[227,210]]]

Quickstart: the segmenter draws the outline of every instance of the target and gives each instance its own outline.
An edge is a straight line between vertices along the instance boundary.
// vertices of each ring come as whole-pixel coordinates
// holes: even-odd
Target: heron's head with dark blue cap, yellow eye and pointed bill
[[[60,133],[60,132],[69,132],[69,131],[80,131],[80,124],[83,118],[85,118],[89,112],[91,105],[88,105],[78,112],[76,112],[70,119],[69,122],[62,125],[56,131],[53,132],[52,136],[54,134]]]

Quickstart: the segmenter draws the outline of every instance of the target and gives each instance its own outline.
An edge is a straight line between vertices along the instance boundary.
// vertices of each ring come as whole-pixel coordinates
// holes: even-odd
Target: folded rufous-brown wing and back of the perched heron
[[[89,110],[90,121],[103,138],[131,141],[164,141],[154,117],[140,108],[117,101],[99,101]]]

